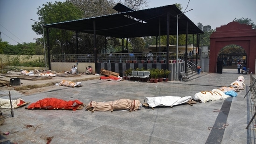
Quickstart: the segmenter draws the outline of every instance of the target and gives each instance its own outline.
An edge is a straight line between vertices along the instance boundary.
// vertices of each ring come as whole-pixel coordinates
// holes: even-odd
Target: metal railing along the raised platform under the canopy
[[[152,59],[148,53],[113,53],[97,54],[97,62],[116,63],[166,63],[166,53],[152,53]],[[77,55],[51,55],[51,62],[95,62],[94,54]],[[176,63],[176,53],[169,54],[169,63]],[[194,60],[194,56],[189,56],[189,60]],[[178,53],[178,62],[184,62],[185,55]]]

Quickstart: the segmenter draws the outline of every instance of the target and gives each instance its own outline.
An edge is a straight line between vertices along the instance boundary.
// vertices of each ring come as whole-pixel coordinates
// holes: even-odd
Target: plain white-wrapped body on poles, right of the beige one
[[[156,96],[145,98],[145,102],[148,103],[149,107],[174,106],[182,103],[187,103],[190,100],[192,100],[192,96]]]

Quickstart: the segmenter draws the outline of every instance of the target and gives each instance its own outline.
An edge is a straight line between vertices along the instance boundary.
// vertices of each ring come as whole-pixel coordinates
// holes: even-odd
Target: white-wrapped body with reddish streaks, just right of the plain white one
[[[202,103],[208,101],[215,101],[228,98],[229,96],[222,92],[220,89],[213,89],[212,91],[201,91],[194,95],[195,101],[201,101]]]

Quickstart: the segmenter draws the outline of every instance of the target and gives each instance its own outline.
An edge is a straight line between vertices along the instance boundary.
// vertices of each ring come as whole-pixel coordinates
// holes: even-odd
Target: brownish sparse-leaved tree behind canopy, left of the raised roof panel
[[[107,14],[114,14],[114,0],[68,0],[83,12],[83,18],[97,17]],[[105,37],[97,35],[96,48],[99,53],[110,52],[110,49],[119,45],[115,38],[106,37],[107,48],[105,48]],[[75,40],[75,37],[73,38]],[[75,42],[70,42],[75,47]],[[107,50],[106,50],[107,49]],[[86,33],[78,33],[78,53],[94,53],[94,35]]]

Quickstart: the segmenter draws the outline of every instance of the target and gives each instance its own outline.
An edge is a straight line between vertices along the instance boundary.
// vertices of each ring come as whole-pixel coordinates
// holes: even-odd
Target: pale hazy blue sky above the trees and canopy
[[[11,45],[35,42],[42,37],[32,30],[38,21],[37,8],[49,1],[65,0],[0,0],[0,32],[2,41]],[[161,7],[180,3],[185,15],[197,25],[210,25],[212,29],[232,22],[235,18],[249,18],[256,24],[256,0],[148,0],[148,7]],[[186,11],[187,11],[186,10]],[[32,21],[33,19],[35,21]]]

